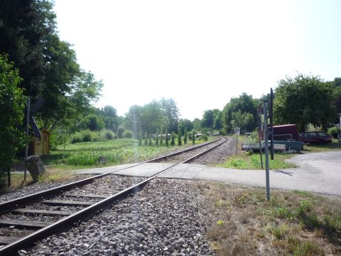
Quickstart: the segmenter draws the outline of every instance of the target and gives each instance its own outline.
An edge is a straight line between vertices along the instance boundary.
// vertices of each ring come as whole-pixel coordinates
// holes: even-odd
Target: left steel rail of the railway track
[[[206,146],[208,144],[212,144],[214,142],[217,142],[218,140],[219,139],[216,139],[216,140],[214,140],[212,142],[207,142],[207,143],[199,144],[197,146],[193,146],[190,149],[184,149],[184,150],[172,153],[172,154],[167,154],[166,156],[159,156],[159,157],[156,157],[155,159],[146,160],[146,161],[143,161],[141,163],[132,164],[131,166],[126,166],[126,167],[118,169],[118,170],[109,171],[107,174],[99,174],[97,176],[92,176],[90,178],[85,178],[85,179],[82,179],[80,181],[75,181],[75,182],[68,183],[68,184],[65,184],[65,185],[62,185],[62,186],[58,186],[58,187],[55,187],[55,188],[50,188],[50,189],[47,189],[45,191],[40,191],[40,192],[37,192],[37,193],[33,193],[31,195],[28,195],[28,196],[23,196],[21,198],[16,198],[16,199],[13,199],[11,201],[6,201],[4,203],[0,203],[0,214],[8,213],[11,210],[14,210],[15,208],[27,206],[27,205],[29,205],[31,203],[35,203],[35,202],[40,201],[42,199],[50,198],[52,196],[56,196],[56,194],[58,194],[58,193],[63,193],[65,191],[68,191],[68,190],[70,190],[72,188],[75,188],[77,186],[84,186],[85,184],[91,183],[92,181],[94,181],[97,178],[102,178],[104,176],[107,176],[107,175],[110,175],[110,174],[114,174],[117,171],[122,171],[122,170],[125,170],[125,169],[133,168],[135,166],[139,166],[141,164],[150,163],[152,161],[160,161],[161,159],[167,159],[168,157],[175,156],[177,154],[182,154],[184,152],[187,152],[187,151],[190,151],[190,150],[193,150],[193,149],[197,149],[197,148],[200,148],[202,146]]]

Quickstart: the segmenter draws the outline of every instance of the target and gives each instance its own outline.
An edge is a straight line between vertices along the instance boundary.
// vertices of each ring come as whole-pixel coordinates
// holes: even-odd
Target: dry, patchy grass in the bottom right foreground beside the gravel
[[[201,182],[216,255],[341,255],[341,200],[304,191]]]

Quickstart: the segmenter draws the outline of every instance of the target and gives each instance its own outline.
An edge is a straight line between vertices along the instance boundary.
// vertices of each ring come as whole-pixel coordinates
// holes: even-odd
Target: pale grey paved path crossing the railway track
[[[271,188],[311,191],[328,195],[341,196],[341,151],[300,154],[290,161],[295,169],[270,171]],[[118,171],[117,174],[129,176],[151,176],[172,164],[143,164],[131,169]],[[82,170],[80,173],[102,174],[130,166],[110,166],[98,169]],[[161,177],[190,178],[196,180],[238,183],[249,186],[265,187],[265,171],[237,170],[211,167],[200,164],[180,164],[167,171]]]

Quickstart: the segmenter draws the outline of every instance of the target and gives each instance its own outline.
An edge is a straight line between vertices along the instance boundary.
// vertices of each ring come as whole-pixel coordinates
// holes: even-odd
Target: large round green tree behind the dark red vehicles
[[[301,132],[308,124],[326,130],[335,119],[332,89],[314,75],[298,73],[278,82],[274,99],[275,124],[298,124]]]

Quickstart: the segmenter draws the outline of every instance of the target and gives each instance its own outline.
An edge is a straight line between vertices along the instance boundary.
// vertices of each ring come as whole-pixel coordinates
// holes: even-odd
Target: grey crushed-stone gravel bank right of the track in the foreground
[[[157,179],[136,196],[21,255],[212,255],[207,201],[193,181]],[[100,191],[99,191],[100,192]]]

